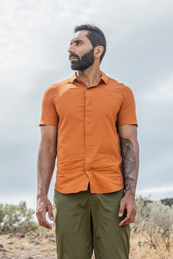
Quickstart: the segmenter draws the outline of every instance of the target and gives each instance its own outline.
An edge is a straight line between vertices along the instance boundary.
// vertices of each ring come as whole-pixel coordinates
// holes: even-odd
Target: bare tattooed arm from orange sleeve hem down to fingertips
[[[139,169],[139,145],[136,124],[122,125],[118,127],[118,132],[125,185],[125,196],[121,200],[119,212],[123,214],[124,209],[127,209],[127,217],[120,222],[126,225],[134,222],[136,215],[135,190]]]

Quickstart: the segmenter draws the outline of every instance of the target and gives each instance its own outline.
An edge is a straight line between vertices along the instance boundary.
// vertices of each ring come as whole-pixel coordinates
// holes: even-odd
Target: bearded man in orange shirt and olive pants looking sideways
[[[139,166],[134,95],[100,70],[106,39],[95,25],[75,26],[68,52],[76,71],[42,98],[36,215],[45,228],[46,212],[54,220],[59,259],[91,259],[93,250],[127,259]]]

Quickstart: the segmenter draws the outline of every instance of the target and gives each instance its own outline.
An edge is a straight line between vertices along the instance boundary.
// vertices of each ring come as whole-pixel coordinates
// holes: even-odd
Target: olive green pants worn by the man
[[[119,226],[124,189],[105,194],[63,194],[54,189],[53,216],[58,259],[129,259],[130,224]]]

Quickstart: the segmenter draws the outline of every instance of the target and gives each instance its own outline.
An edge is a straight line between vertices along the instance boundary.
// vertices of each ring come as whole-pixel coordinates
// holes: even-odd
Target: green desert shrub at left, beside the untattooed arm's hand
[[[25,201],[19,205],[0,204],[0,234],[36,230],[38,224],[32,219],[34,213],[34,210],[27,209]]]

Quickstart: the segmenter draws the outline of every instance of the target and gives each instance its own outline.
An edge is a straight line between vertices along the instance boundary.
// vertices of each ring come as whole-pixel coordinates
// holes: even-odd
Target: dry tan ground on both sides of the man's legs
[[[145,241],[143,236],[130,239],[130,259],[173,259],[171,255],[173,251],[170,254],[162,251],[163,257],[161,257],[156,250],[144,245]],[[57,259],[54,231],[51,230],[44,234],[28,232],[25,235],[19,233],[0,235],[0,258]],[[93,252],[92,259],[94,258]]]

